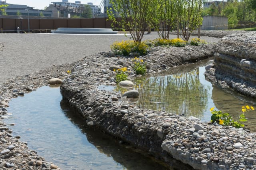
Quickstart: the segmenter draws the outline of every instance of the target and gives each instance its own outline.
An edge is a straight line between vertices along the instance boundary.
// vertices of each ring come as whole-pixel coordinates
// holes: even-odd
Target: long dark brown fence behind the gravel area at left
[[[107,18],[87,19],[30,19],[30,32],[54,30],[57,28],[112,28]],[[0,18],[2,32],[28,31],[28,19]],[[120,28],[115,26],[115,28]]]

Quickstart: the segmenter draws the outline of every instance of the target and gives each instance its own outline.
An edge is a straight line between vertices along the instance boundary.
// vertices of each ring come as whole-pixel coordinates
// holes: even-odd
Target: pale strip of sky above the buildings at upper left
[[[5,1],[5,0],[2,0]],[[100,5],[101,0],[68,0],[68,2],[81,1],[81,4],[92,2],[94,5]],[[34,7],[34,9],[43,10],[44,7],[52,4],[51,2],[62,2],[62,0],[6,0],[8,4],[19,4]]]

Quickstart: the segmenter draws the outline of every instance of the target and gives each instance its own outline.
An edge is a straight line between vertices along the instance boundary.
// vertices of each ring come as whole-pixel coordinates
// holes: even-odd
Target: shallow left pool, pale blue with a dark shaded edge
[[[12,99],[7,124],[30,149],[63,170],[167,169],[150,157],[119,144],[84,122],[62,100],[59,88],[41,87]],[[169,168],[168,168],[169,169]]]

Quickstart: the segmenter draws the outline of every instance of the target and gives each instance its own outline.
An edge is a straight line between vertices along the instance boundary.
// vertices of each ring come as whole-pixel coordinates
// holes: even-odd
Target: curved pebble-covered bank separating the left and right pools
[[[172,53],[172,49],[178,51]],[[153,54],[142,57],[150,66],[149,73],[188,63],[189,60],[182,60],[182,56],[190,58],[190,55],[198,54],[196,59],[200,60],[213,54],[210,45],[163,50],[166,49],[156,48],[152,50]],[[170,57],[177,63],[170,62]],[[177,165],[170,161],[175,158],[195,169],[256,168],[255,133],[203,123],[195,117],[186,119],[171,113],[142,109],[134,105],[132,98],[122,97],[118,91],[99,89],[102,85],[115,85],[115,72],[110,67],[121,65],[131,69],[131,63],[131,59],[111,53],[85,57],[76,63],[70,77],[62,83],[62,96],[76,108],[86,125],[100,128],[170,166]],[[191,168],[185,164],[176,168]]]

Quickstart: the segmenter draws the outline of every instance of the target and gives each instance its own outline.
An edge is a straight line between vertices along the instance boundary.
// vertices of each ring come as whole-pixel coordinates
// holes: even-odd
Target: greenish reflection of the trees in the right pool
[[[208,89],[200,83],[199,67],[186,73],[136,79],[141,107],[199,119],[207,109]]]

